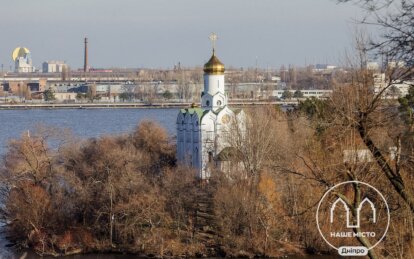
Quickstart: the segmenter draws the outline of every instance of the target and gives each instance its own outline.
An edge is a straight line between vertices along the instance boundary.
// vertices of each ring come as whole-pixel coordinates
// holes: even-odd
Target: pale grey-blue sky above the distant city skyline
[[[227,66],[338,63],[361,11],[335,0],[1,0],[0,63],[17,46],[34,64],[99,67],[203,65],[208,36]]]

